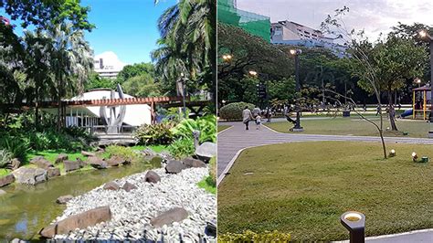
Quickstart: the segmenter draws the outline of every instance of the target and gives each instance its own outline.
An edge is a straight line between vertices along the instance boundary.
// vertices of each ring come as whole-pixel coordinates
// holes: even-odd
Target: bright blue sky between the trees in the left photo
[[[86,33],[86,39],[95,55],[113,51],[126,64],[149,62],[152,50],[157,48],[158,18],[176,2],[161,0],[154,5],[153,0],[81,0],[81,5],[90,6],[89,20],[96,25]],[[5,16],[3,9],[0,15]],[[19,22],[14,24],[21,35]]]

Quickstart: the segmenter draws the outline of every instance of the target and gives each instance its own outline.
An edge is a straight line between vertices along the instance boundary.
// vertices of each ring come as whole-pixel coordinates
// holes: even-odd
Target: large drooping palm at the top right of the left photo
[[[158,21],[160,48],[153,51],[156,69],[165,79],[178,79],[184,72],[215,90],[216,79],[203,79],[206,73],[216,73],[215,27],[215,0],[180,0],[169,7]]]

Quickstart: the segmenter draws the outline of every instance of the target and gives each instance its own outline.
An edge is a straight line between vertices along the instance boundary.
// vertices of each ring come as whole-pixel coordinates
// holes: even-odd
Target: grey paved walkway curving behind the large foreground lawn
[[[218,182],[223,180],[234,160],[241,150],[276,143],[314,142],[314,141],[357,141],[357,142],[380,142],[378,136],[345,136],[345,135],[318,135],[305,133],[282,133],[270,130],[262,125],[261,130],[256,130],[254,122],[250,122],[250,130],[245,131],[242,122],[224,122],[231,125],[218,133]],[[291,124],[287,123],[288,128]],[[433,144],[433,139],[408,138],[408,137],[385,137],[385,143],[427,143]]]

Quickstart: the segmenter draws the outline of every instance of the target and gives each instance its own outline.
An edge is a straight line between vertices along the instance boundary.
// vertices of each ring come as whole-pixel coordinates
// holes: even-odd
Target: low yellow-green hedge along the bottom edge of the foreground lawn
[[[272,232],[265,231],[263,233],[254,233],[251,230],[246,230],[242,234],[218,234],[218,242],[289,242],[290,234],[281,233],[277,230]]]

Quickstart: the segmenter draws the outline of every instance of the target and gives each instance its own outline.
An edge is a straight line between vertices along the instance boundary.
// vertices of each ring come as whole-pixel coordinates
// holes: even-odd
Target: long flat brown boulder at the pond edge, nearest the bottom
[[[109,206],[100,206],[89,211],[67,217],[57,223],[44,227],[39,234],[44,238],[53,238],[55,235],[68,234],[76,228],[95,226],[100,222],[110,221],[111,211]]]

